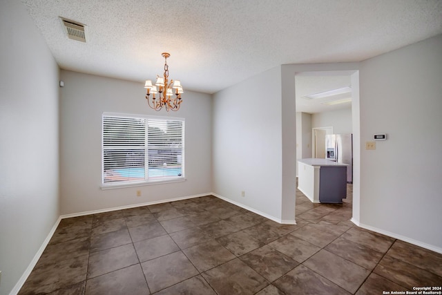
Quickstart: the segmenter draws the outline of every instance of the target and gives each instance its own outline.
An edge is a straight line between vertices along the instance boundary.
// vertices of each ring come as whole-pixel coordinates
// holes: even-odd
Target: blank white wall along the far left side
[[[20,1],[0,2],[0,39],[0,294],[9,294],[59,217],[59,69]]]

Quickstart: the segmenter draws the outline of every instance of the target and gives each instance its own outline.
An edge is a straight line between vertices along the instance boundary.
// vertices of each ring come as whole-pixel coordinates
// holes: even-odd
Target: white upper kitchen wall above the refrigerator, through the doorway
[[[314,113],[311,115],[311,127],[333,127],[333,133],[353,133],[352,130],[352,108]]]

